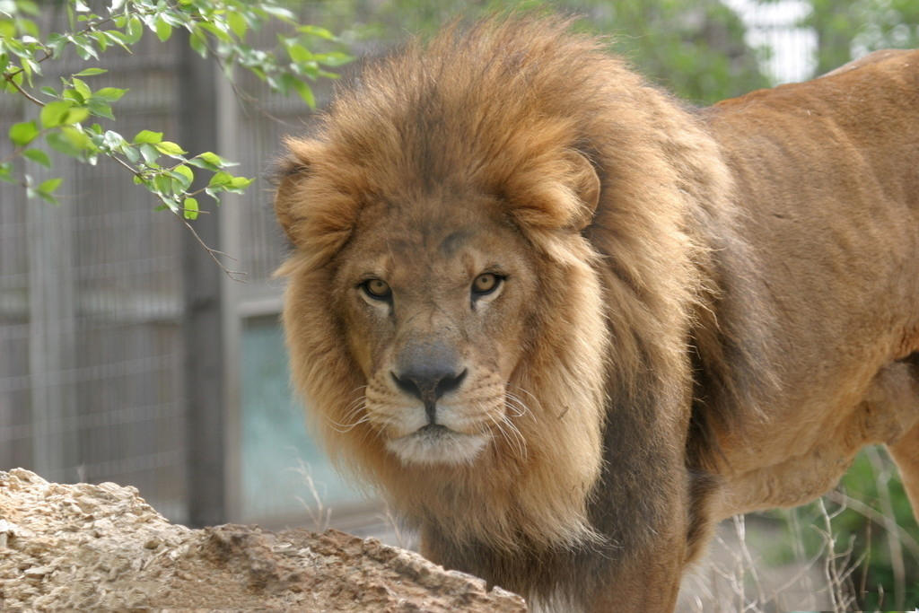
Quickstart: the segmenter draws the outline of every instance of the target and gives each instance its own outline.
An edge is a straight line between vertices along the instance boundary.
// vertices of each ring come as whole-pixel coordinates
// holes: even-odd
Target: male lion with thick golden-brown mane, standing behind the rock
[[[919,508],[919,52],[711,108],[561,18],[369,62],[287,140],[291,377],[426,557],[670,611],[885,444]]]

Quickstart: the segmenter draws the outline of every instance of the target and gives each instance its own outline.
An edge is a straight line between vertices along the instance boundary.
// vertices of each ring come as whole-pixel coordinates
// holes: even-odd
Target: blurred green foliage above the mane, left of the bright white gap
[[[428,35],[455,18],[515,9],[580,17],[578,28],[609,35],[612,51],[693,103],[769,85],[759,68],[761,52],[743,41],[743,22],[719,0],[337,0],[310,6],[305,17],[359,46],[360,41]]]

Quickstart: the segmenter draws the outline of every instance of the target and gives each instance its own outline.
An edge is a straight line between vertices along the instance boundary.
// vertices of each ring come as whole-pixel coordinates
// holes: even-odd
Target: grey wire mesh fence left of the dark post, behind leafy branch
[[[176,47],[146,42],[97,77],[130,89],[125,133],[175,130]],[[37,115],[6,98],[4,125]],[[59,207],[0,186],[0,466],[129,482],[182,519],[179,228],[118,167],[53,160]]]

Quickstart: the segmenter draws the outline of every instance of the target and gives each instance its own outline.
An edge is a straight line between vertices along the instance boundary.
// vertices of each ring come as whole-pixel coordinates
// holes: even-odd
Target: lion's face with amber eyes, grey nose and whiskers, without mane
[[[367,380],[347,419],[405,464],[469,463],[494,437],[523,444],[512,418],[524,399],[508,381],[538,277],[491,198],[420,200],[366,207],[338,258],[335,296]]]

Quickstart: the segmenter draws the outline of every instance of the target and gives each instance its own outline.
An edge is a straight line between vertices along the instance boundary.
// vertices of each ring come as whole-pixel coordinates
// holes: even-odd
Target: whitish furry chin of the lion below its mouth
[[[403,464],[471,464],[487,442],[484,435],[428,425],[410,435],[392,438],[386,442],[386,448]]]

